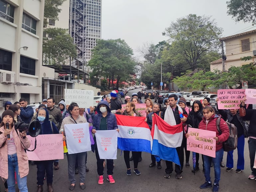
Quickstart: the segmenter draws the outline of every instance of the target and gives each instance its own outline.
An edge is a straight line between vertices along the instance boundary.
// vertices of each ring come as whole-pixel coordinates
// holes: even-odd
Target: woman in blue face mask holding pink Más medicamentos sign
[[[42,125],[40,134],[59,134],[59,131],[53,122],[49,121],[49,113],[45,108],[40,108],[37,112],[37,120]],[[48,192],[53,192],[53,160],[34,161],[37,165],[37,192],[43,192],[44,177]]]

